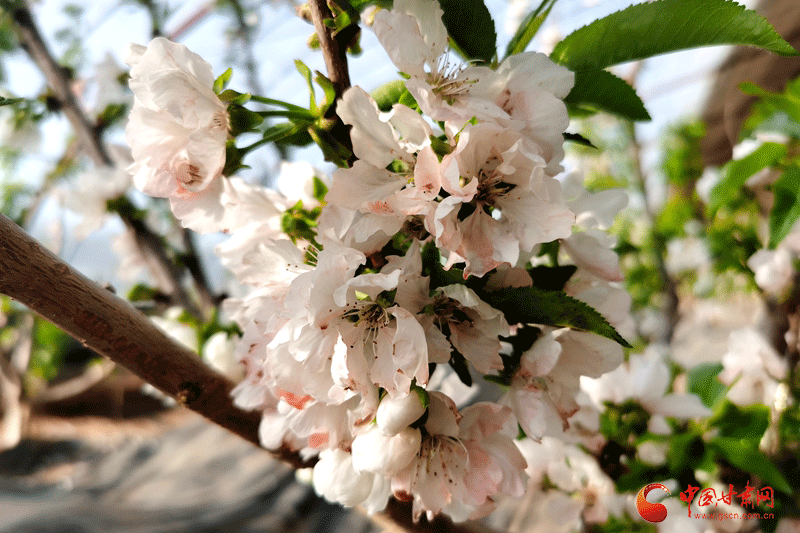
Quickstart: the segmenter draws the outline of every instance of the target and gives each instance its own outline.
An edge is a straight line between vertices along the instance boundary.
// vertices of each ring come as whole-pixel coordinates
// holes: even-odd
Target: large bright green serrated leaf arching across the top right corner
[[[570,70],[597,70],[716,44],[797,55],[767,20],[728,0],[656,0],[631,6],[568,35],[550,57]]]

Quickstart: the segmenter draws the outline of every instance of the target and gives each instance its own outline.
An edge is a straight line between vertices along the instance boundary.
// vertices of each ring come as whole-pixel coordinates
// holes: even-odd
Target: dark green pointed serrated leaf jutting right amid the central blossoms
[[[499,309],[509,324],[542,324],[595,333],[629,348],[628,342],[597,310],[564,292],[536,287],[483,291],[480,297]]]

